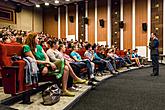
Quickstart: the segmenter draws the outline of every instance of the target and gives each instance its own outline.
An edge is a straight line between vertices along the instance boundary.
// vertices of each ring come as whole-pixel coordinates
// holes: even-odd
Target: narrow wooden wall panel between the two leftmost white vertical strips
[[[60,37],[66,38],[66,7],[60,7]]]

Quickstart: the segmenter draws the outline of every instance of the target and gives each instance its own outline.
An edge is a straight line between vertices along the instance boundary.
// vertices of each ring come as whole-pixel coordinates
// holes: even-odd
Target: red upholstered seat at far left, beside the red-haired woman
[[[13,62],[11,57],[16,54],[22,56],[21,44],[0,44],[0,66],[2,67],[2,84],[4,92],[16,94],[25,91],[23,60]]]

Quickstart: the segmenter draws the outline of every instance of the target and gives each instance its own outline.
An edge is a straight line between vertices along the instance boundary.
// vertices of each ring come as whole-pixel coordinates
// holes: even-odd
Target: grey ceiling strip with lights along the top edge
[[[59,6],[59,5],[65,5],[65,4],[69,4],[69,3],[74,3],[74,2],[79,2],[79,1],[83,1],[83,0],[70,0],[70,1],[66,1],[66,0],[58,0],[59,4],[55,4],[55,0],[11,0],[17,3],[21,3],[27,6],[33,6],[35,4],[43,4],[45,2],[48,2],[54,6]]]

